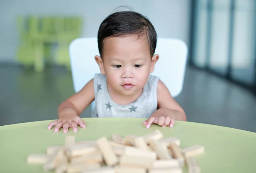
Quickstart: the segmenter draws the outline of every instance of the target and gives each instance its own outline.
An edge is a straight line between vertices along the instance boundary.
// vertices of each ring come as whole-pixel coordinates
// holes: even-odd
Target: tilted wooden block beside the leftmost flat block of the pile
[[[44,170],[53,170],[58,165],[58,159],[64,154],[64,147],[57,148],[51,155],[49,155],[47,162],[44,164]]]

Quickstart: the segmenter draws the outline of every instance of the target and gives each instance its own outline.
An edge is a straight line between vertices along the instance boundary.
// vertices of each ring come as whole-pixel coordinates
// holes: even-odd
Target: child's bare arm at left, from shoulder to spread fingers
[[[84,121],[79,117],[81,112],[94,100],[93,79],[90,80],[79,92],[67,98],[58,107],[58,120],[52,121],[48,129],[55,126],[54,132],[58,132],[63,127],[63,132],[67,133],[68,128],[72,127],[77,131],[77,126],[85,128]]]

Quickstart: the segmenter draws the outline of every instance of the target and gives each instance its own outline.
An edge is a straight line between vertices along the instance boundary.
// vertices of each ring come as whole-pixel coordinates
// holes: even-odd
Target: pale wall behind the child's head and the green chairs
[[[158,37],[189,43],[189,0],[0,0],[0,62],[15,61],[18,15],[82,15],[82,37],[96,37],[102,20],[118,6],[131,6],[147,16]]]

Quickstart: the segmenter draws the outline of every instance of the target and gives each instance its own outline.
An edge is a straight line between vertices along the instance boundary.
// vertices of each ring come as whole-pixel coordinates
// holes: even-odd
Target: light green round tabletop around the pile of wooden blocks
[[[0,127],[0,173],[43,173],[41,164],[27,164],[31,153],[46,153],[52,145],[63,145],[65,136],[77,141],[96,140],[111,134],[145,135],[159,129],[166,137],[180,139],[180,147],[200,144],[203,154],[195,156],[201,173],[252,173],[256,171],[256,133],[227,127],[176,121],[173,128],[153,125],[146,129],[140,118],[84,118],[87,128],[73,133],[48,130],[50,121],[13,124]],[[61,129],[62,130],[62,129]],[[186,173],[186,169],[184,169]]]

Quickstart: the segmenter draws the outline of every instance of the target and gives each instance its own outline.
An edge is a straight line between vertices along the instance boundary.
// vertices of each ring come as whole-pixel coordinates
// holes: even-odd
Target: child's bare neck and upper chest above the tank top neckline
[[[116,104],[119,104],[119,105],[130,104],[130,103],[136,101],[143,92],[143,89],[141,89],[140,91],[136,92],[134,95],[122,95],[119,92],[115,92],[113,89],[111,89],[110,86],[108,86],[107,89],[108,89],[108,93],[109,93],[111,99]]]

